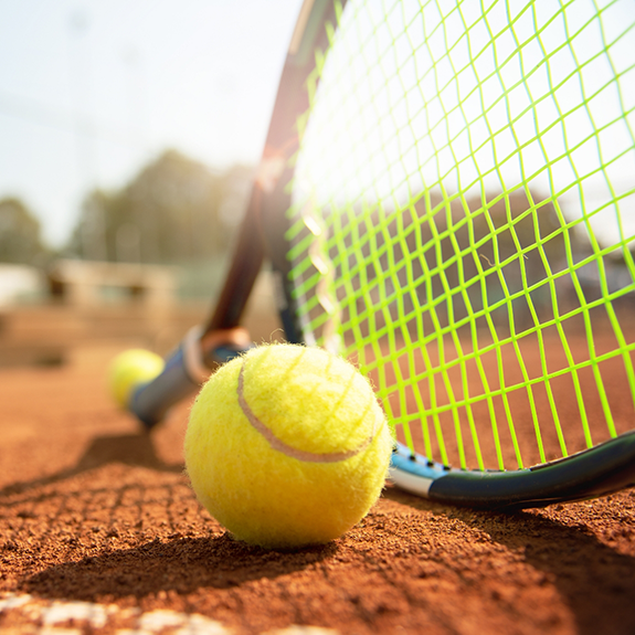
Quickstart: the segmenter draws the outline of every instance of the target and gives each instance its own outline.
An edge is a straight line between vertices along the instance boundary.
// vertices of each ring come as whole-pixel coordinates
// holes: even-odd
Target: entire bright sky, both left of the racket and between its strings
[[[7,195],[21,198],[41,221],[45,240],[53,246],[62,246],[77,221],[81,201],[87,191],[95,187],[123,187],[167,148],[176,148],[213,169],[223,169],[233,162],[255,163],[264,144],[279,74],[300,4],[301,0],[0,0],[0,199]],[[391,7],[391,3],[379,1],[371,4]],[[453,4],[449,2],[446,6],[452,8]],[[390,31],[391,19],[395,15],[408,22],[409,32],[412,28],[421,30],[421,20],[404,18],[410,6],[415,13],[420,10],[419,2],[406,1],[400,12],[383,15],[379,11],[375,15],[378,23],[372,28],[374,39],[381,42],[383,31]],[[478,13],[478,3],[466,3],[463,11],[469,7]],[[542,0],[536,7],[542,8],[541,11],[550,18],[558,4],[552,0]],[[631,177],[635,159],[632,152],[618,156],[624,144],[631,142],[632,130],[635,129],[635,35],[633,29],[624,32],[625,25],[633,22],[633,7],[632,0],[610,3],[602,11],[603,31],[597,21],[590,22],[573,39],[571,49],[578,61],[584,62],[582,80],[588,95],[597,93],[589,100],[589,112],[596,119],[596,126],[602,128],[601,150],[603,160],[611,161],[612,186],[620,190],[620,195],[631,192],[623,199],[623,205],[626,202],[631,205],[635,198]],[[592,0],[581,0],[569,10],[568,21],[572,33],[584,25],[585,17],[593,13],[593,8]],[[488,21],[495,27],[498,13],[505,22],[505,3],[495,4],[487,14]],[[453,15],[456,18],[456,12]],[[532,15],[530,11],[523,14],[529,31],[535,28]],[[478,22],[476,18],[475,24]],[[434,27],[436,21],[437,15],[426,15],[426,29],[433,35],[442,32]],[[544,23],[550,27],[541,38],[543,43],[549,44],[550,38],[558,40],[561,36],[558,29],[562,21],[549,22],[546,19]],[[448,22],[448,25],[452,24]],[[516,21],[515,28],[522,39],[522,20]],[[470,31],[473,50],[479,51],[477,30],[472,28]],[[461,34],[462,25],[456,24],[449,32]],[[423,31],[415,35],[421,38],[422,34]],[[487,39],[487,33],[484,38]],[[593,57],[602,49],[602,38],[610,42],[616,40],[612,54],[613,62],[618,64],[616,72],[620,73],[621,95],[617,95],[614,83],[603,86],[605,78],[613,72],[608,65],[610,60],[605,55],[596,60]],[[453,59],[455,67],[466,66],[465,60],[461,57],[462,47],[453,45],[452,54],[446,56],[446,45],[437,42],[433,50],[444,60]],[[500,40],[500,45],[505,46],[506,42]],[[378,74],[398,77],[391,64],[400,59],[399,45],[395,46],[396,57],[373,57],[383,47],[378,47],[372,39],[368,40],[367,49],[374,51],[369,51],[362,57],[372,67],[372,72],[368,73],[369,91],[374,89]],[[317,141],[313,144],[316,160],[308,160],[313,148],[308,142],[310,134],[307,135],[308,149],[304,151],[308,158],[305,163],[311,167],[313,177],[322,189],[330,188],[340,193],[351,188],[370,188],[375,191],[384,183],[387,191],[392,191],[389,181],[395,178],[403,181],[401,172],[405,161],[396,162],[400,171],[394,177],[391,172],[394,162],[390,160],[391,151],[396,157],[405,156],[406,150],[403,148],[406,147],[413,156],[416,155],[413,165],[421,157],[427,157],[412,171],[416,179],[424,181],[424,187],[438,180],[441,171],[447,172],[445,180],[461,178],[462,182],[468,182],[474,179],[468,170],[470,162],[457,161],[456,157],[469,159],[472,156],[463,138],[465,135],[459,134],[467,129],[463,110],[473,119],[468,128],[472,147],[481,146],[481,154],[489,148],[483,145],[487,130],[479,123],[484,119],[481,107],[467,102],[465,108],[454,104],[452,82],[447,82],[447,89],[444,88],[437,95],[436,85],[426,84],[435,77],[430,72],[433,61],[422,56],[424,47],[417,44],[415,49],[413,61],[416,61],[416,71],[410,72],[404,65],[399,76],[406,83],[412,80],[412,85],[424,86],[425,89],[406,92],[405,99],[402,98],[403,89],[400,89],[395,93],[396,102],[391,100],[393,86],[390,83],[385,83],[380,94],[370,98],[370,93],[364,94],[359,82],[349,77],[350,74],[356,76],[356,70],[353,64],[347,62],[346,55],[342,57],[342,68],[347,73],[331,73],[342,78],[343,87],[335,82],[331,91],[335,106],[329,106],[328,99],[320,98],[324,104],[322,118],[329,130],[334,129],[334,121],[339,123],[341,130],[324,135],[319,133],[324,128],[317,126],[318,133],[314,135]],[[532,73],[527,82],[520,82],[522,65],[531,68],[533,62],[538,63],[543,55],[541,50],[533,49],[523,46],[522,55],[512,56],[511,62],[501,70],[499,83],[507,82],[505,89],[493,85],[486,87],[486,94],[490,100],[507,94],[506,103],[509,107],[526,113],[523,117],[527,125],[521,118],[515,123],[517,133],[522,139],[527,138],[527,144],[520,142],[526,168],[535,166],[537,171],[544,173],[540,169],[547,159],[544,148],[539,148],[537,142],[529,142],[536,138],[536,125],[550,130],[553,136],[548,147],[554,155],[550,178],[557,184],[559,180],[563,183],[571,181],[571,161],[557,160],[562,149],[563,131],[569,137],[570,148],[580,146],[575,150],[578,166],[583,168],[584,173],[597,172],[595,177],[585,180],[589,186],[593,186],[593,191],[585,195],[594,197],[596,207],[601,208],[606,197],[612,194],[605,191],[606,171],[599,172],[596,169],[600,165],[600,146],[583,144],[590,149],[582,151],[581,144],[585,139],[585,121],[589,117],[576,110],[563,118],[564,127],[554,127],[551,123],[559,117],[553,110],[553,99],[529,108],[535,95],[543,94],[549,82],[560,81],[567,77],[567,73],[571,74],[570,49],[563,49],[551,59],[551,76],[543,72],[547,65],[539,64],[539,72]],[[501,49],[499,59],[505,60],[507,53]],[[592,63],[588,64],[590,57]],[[331,66],[337,65],[338,59],[338,55],[329,55]],[[474,66],[481,76],[487,76],[490,72],[486,67],[487,60],[487,55],[478,55],[469,67]],[[451,77],[452,73],[449,68],[444,70],[441,62],[438,64],[443,85],[446,82],[444,77]],[[328,94],[328,75],[327,67],[322,81],[325,86],[320,88],[322,94]],[[574,75],[571,76],[575,78]],[[467,77],[466,82],[462,92],[476,95],[470,84],[474,81]],[[350,91],[352,85],[356,86],[354,94]],[[351,93],[353,102],[361,98],[362,106],[385,104],[385,108],[382,110],[375,107],[374,117],[368,121],[359,113],[363,114],[369,108],[352,108],[353,118],[348,120],[341,116],[341,103],[346,103],[348,93]],[[580,87],[571,80],[554,95],[560,105],[567,105],[571,99],[575,100],[579,93]],[[422,98],[427,99],[425,108],[421,108]],[[624,102],[622,108],[629,114],[627,119],[613,123],[620,99]],[[501,130],[508,129],[509,115],[501,108],[502,102],[499,102],[498,110],[491,109],[489,116]],[[443,108],[440,110],[438,104],[442,103]],[[332,108],[337,116],[332,114]],[[398,117],[400,108],[405,110],[401,118]],[[316,108],[314,112],[311,121],[319,121],[318,110]],[[447,128],[445,124],[430,124],[434,113],[443,115],[443,110],[452,110],[447,119],[442,119],[458,130],[452,144],[444,136]],[[389,112],[394,116],[388,117]],[[413,128],[419,124],[416,117],[411,117],[409,113],[425,115],[422,129]],[[625,128],[627,120],[631,130]],[[408,126],[403,126],[404,123]],[[523,130],[527,133],[525,136]],[[406,145],[398,147],[404,134]],[[441,137],[436,138],[435,135]],[[358,142],[358,137],[364,142]],[[339,144],[334,144],[334,138],[339,139]],[[369,149],[369,142],[380,138],[390,139],[394,148],[391,150],[387,142],[383,144],[383,152]],[[416,147],[412,145],[414,138]],[[517,139],[507,139],[511,150],[506,149],[504,134],[497,135],[497,142],[500,145],[496,148],[498,156],[514,155],[511,150],[519,145]],[[443,152],[430,151],[430,148],[424,147],[425,144],[437,148],[452,146],[453,151],[446,152],[445,157],[448,165],[437,166],[444,158]],[[358,148],[359,151],[351,155],[351,148]],[[618,160],[614,161],[615,156],[618,156]],[[378,157],[383,157],[383,160]],[[367,166],[369,158],[372,158],[370,167]],[[491,162],[490,159],[479,159],[481,172],[488,171],[485,168],[488,160]],[[552,158],[549,157],[549,160]],[[514,167],[519,163],[507,161],[506,165]],[[463,166],[462,171],[457,166]],[[558,168],[557,166],[561,166],[561,169]],[[331,168],[336,179],[332,183],[322,173],[324,169]],[[362,183],[359,182],[360,174],[366,179],[362,179]],[[449,186],[445,184],[455,187],[454,181]],[[575,199],[572,207],[580,207],[578,201]],[[611,220],[604,216],[612,213],[610,207],[606,207],[603,214],[595,215],[597,224],[604,226]],[[629,214],[628,221],[627,233],[633,235],[635,214]],[[611,223],[615,224],[612,220]]]

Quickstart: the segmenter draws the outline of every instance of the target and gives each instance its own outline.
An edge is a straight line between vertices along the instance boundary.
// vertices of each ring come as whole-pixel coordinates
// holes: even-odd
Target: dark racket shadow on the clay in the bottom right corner
[[[541,512],[501,514],[443,506],[394,487],[388,488],[384,496],[406,506],[458,519],[489,536],[494,543],[507,551],[522,554],[527,564],[543,573],[543,583],[552,584],[563,597],[580,635],[635,633],[635,558],[602,542],[591,526],[585,526],[589,521],[582,514],[576,518],[574,506],[552,508],[557,515],[562,512],[560,522]],[[606,519],[606,538],[612,537],[618,525],[614,520],[615,510],[610,516],[599,509],[593,517],[594,527],[600,527],[602,519]],[[622,527],[624,530],[627,528]]]

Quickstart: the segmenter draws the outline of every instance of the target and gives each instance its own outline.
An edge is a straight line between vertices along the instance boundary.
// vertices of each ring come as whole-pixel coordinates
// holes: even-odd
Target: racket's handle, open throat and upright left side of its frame
[[[337,9],[345,6],[340,0]],[[165,370],[133,391],[128,410],[149,430],[162,421],[172,405],[201,387],[200,358],[210,372],[240,354],[233,332],[241,325],[247,300],[265,258],[271,262],[278,292],[278,310],[287,341],[300,342],[290,289],[289,263],[284,241],[287,184],[293,177],[292,158],[299,148],[297,120],[309,108],[306,84],[316,68],[316,51],[329,44],[328,24],[337,21],[332,0],[305,0],[299,12],[282,72],[269,128],[254,179],[247,209],[239,229],[233,257],[220,295],[200,335],[191,335],[168,356]],[[226,339],[223,339],[226,334]],[[198,352],[192,350],[198,348]]]

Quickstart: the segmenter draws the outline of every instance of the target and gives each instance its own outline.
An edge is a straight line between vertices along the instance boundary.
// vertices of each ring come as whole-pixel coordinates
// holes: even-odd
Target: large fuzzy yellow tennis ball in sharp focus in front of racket
[[[392,437],[368,380],[342,358],[254,348],[201,389],[186,432],[199,501],[235,538],[268,549],[328,542],[377,501]]]

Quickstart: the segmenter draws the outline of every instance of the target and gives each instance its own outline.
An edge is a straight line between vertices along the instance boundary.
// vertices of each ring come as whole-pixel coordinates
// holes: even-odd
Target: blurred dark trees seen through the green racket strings
[[[432,191],[405,212],[354,218],[360,225],[346,240],[358,242],[361,256],[339,265],[335,278],[349,275],[353,289],[368,284],[370,293],[383,285],[385,301],[400,297],[405,313],[424,307],[425,332],[468,319],[487,327],[486,314],[499,329],[522,330],[553,319],[554,305],[564,313],[585,299],[570,272],[589,244],[558,202],[538,192],[452,199]],[[402,297],[402,288],[412,296]],[[377,327],[382,318],[374,319]]]

